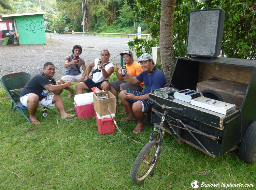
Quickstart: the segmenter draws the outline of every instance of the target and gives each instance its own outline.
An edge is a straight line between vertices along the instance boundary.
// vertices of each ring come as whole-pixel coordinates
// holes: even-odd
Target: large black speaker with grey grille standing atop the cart
[[[225,11],[222,8],[189,12],[186,55],[217,57],[221,54]]]

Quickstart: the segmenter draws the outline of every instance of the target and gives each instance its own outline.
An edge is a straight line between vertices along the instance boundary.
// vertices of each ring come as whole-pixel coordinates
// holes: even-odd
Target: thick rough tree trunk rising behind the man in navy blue
[[[163,73],[167,82],[170,81],[176,58],[173,51],[173,19],[175,0],[162,0],[160,20],[160,53]]]

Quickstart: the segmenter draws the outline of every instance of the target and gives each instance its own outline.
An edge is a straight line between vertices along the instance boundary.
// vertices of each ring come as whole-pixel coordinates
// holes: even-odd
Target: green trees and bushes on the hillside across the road
[[[38,0],[19,0],[14,7],[17,13],[40,11]],[[84,0],[83,7],[81,0],[41,0],[41,10],[47,12],[44,16],[55,21],[57,33],[65,31],[65,27],[83,32],[83,14],[85,32],[137,33],[139,24],[142,31],[148,29],[148,24],[134,17],[123,0]],[[52,23],[46,25],[53,30]]]

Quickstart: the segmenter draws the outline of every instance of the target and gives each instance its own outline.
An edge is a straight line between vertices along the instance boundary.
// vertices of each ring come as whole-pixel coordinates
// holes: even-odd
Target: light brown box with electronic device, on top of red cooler
[[[116,97],[110,91],[105,92],[108,93],[108,98],[101,100],[96,95],[102,92],[93,94],[94,109],[99,116],[109,115],[107,106],[109,106],[110,114],[116,113]]]

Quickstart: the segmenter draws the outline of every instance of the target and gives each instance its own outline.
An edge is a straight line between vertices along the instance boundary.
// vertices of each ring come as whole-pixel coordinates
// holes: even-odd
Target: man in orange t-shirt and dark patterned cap
[[[140,64],[133,61],[131,50],[125,50],[123,53],[120,53],[120,55],[123,56],[124,64],[126,63],[126,70],[127,70],[126,74],[128,74],[131,77],[135,77],[143,71]],[[141,92],[143,89],[143,86],[144,86],[143,82],[139,83],[139,84],[131,85],[131,84],[127,83],[126,81],[124,81],[124,77],[122,77],[120,72],[118,72],[119,68],[120,67],[117,66],[117,64],[116,64],[115,72],[116,72],[116,76],[119,81],[113,81],[110,83],[110,91],[116,97],[117,106],[119,106],[118,92],[120,92],[122,90],[134,90],[134,91]],[[122,68],[121,68],[121,70],[122,70]],[[126,112],[127,112],[127,110],[124,107],[120,114],[124,115],[124,114],[126,114]]]

